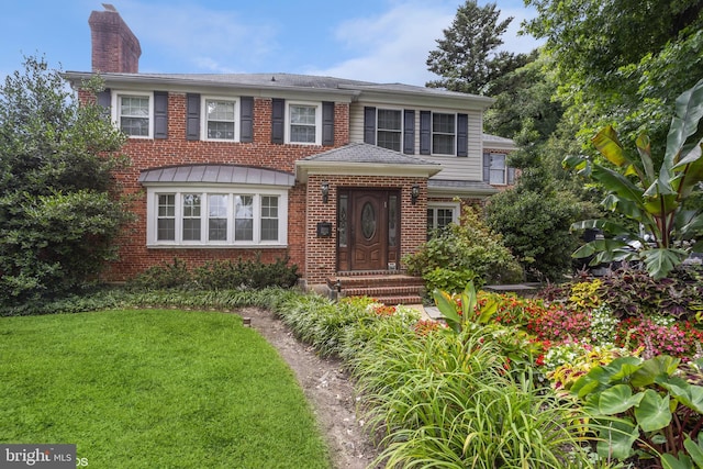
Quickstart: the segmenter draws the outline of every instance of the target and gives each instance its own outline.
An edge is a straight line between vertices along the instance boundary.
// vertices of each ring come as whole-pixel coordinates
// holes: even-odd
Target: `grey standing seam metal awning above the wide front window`
[[[223,183],[293,187],[295,177],[286,171],[238,165],[182,165],[146,169],[138,181],[149,183]]]

